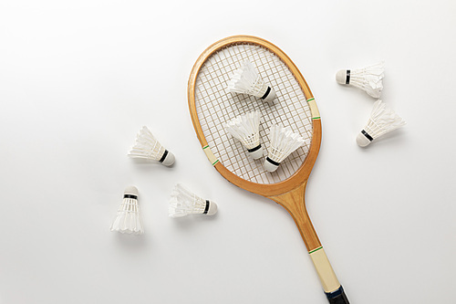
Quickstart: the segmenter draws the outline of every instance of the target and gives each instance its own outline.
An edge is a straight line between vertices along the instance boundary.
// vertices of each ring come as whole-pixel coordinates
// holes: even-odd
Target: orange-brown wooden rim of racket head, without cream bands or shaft
[[[202,65],[208,58],[212,56],[212,54],[216,53],[220,49],[224,47],[230,47],[236,44],[254,44],[260,47],[264,47],[268,49],[270,52],[275,54],[278,58],[284,61],[285,65],[290,69],[292,74],[295,76],[299,86],[305,93],[306,99],[310,100],[313,99],[314,96],[312,91],[308,87],[306,83],[306,79],[302,76],[301,72],[298,68],[296,68],[295,63],[286,56],[286,54],[279,48],[276,47],[274,44],[270,43],[263,38],[254,37],[254,36],[232,36],[223,38],[215,43],[213,43],[210,47],[207,47],[203,52],[202,55],[196,60],[192,72],[190,74],[189,83],[188,83],[188,101],[189,101],[189,108],[190,113],[192,116],[192,123],[193,128],[196,131],[198,136],[198,140],[200,141],[202,147],[208,145],[204,133],[202,131],[202,126],[198,119],[198,113],[196,110],[196,100],[195,100],[195,84],[196,79],[198,78],[198,74],[202,68]],[[309,152],[307,153],[306,160],[301,164],[299,169],[290,177],[285,179],[285,181],[279,183],[253,183],[243,178],[237,176],[236,174],[232,173],[226,167],[223,166],[221,162],[217,162],[214,164],[215,169],[223,175],[225,179],[229,182],[247,190],[254,194],[260,194],[266,197],[275,196],[279,194],[285,194],[299,185],[306,183],[310,172],[312,171],[312,167],[316,162],[316,156],[320,150],[320,143],[321,143],[321,121],[320,119],[312,120],[313,126],[313,136],[312,142],[309,148]]]

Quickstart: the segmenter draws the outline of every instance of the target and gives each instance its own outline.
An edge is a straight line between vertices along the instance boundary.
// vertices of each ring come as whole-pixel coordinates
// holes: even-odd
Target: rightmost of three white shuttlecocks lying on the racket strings
[[[269,172],[275,172],[280,162],[305,142],[304,138],[291,131],[290,127],[284,128],[276,124],[271,126],[269,137],[271,146],[264,161],[264,170]]]

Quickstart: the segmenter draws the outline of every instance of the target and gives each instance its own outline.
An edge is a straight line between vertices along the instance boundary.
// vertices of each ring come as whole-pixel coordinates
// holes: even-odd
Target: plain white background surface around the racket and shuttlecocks
[[[321,112],[306,203],[351,303],[451,303],[456,264],[456,3],[0,3],[0,303],[326,303],[279,205],[226,182],[192,128],[187,80],[227,36],[293,59]],[[374,99],[339,68],[386,60],[408,124],[361,149]],[[126,156],[142,125],[171,168]],[[219,204],[168,217],[174,183]],[[140,189],[146,233],[109,232]]]

